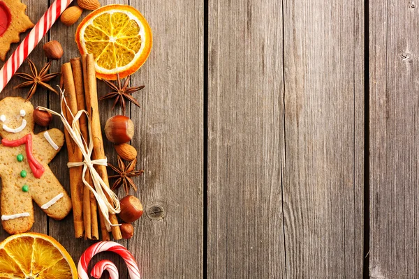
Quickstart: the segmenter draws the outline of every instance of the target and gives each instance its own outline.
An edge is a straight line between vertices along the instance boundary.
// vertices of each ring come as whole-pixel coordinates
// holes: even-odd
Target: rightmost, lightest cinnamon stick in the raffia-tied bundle
[[[87,54],[87,56],[82,56],[83,63],[85,61],[86,65],[86,73],[85,77],[87,78],[87,90],[85,89],[86,93],[86,105],[89,110],[89,114],[91,117],[91,133],[93,137],[93,146],[94,146],[94,153],[93,159],[104,159],[105,152],[103,149],[103,137],[102,137],[102,130],[101,130],[101,119],[99,115],[99,108],[98,108],[98,93],[96,89],[96,70],[95,70],[95,63],[92,54]],[[108,181],[108,171],[106,166],[104,165],[96,165],[96,170],[98,174],[101,176],[105,184],[109,187]],[[108,202],[112,203],[112,199],[108,197]],[[99,216],[101,216],[101,212],[99,212]],[[118,219],[115,214],[109,214],[109,220],[112,225],[118,224]],[[103,216],[101,217],[101,221],[103,221]],[[103,223],[103,222],[102,222]],[[112,236],[115,240],[122,239],[121,229],[119,226],[112,226]]]

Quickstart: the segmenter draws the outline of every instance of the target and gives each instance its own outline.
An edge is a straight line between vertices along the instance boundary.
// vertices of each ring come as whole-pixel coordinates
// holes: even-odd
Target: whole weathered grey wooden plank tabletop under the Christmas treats
[[[34,22],[49,4],[22,1]],[[129,110],[145,170],[131,194],[146,212],[119,241],[143,278],[418,278],[416,1],[117,2],[154,32],[132,79],[146,86],[142,107]],[[65,48],[52,71],[79,56],[77,25],[57,22],[43,40]],[[30,58],[46,61],[41,46]],[[25,96],[19,82],[3,96]],[[32,103],[59,109],[43,90]],[[103,125],[121,112],[111,105],[101,102]],[[68,189],[66,153],[50,167]],[[33,231],[75,262],[92,243],[74,239],[72,216],[38,208]],[[128,278],[115,255],[94,262],[107,257]]]

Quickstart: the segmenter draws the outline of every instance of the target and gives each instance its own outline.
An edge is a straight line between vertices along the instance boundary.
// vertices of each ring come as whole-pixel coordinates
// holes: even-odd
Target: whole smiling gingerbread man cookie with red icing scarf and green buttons
[[[71,211],[68,197],[48,163],[64,144],[58,129],[34,134],[34,107],[23,98],[0,101],[1,224],[9,234],[34,224],[32,199],[56,220]]]

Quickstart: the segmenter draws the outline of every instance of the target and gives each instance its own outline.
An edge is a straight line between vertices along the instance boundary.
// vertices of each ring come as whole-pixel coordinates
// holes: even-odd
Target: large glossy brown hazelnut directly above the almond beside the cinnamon
[[[105,135],[115,144],[129,142],[134,135],[134,123],[124,115],[112,116],[106,121]]]

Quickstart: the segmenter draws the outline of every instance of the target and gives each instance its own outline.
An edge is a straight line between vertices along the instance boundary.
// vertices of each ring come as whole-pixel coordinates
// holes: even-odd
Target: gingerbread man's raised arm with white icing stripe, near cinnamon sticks
[[[56,128],[34,135],[33,153],[41,163],[49,164],[64,145],[64,133]]]

